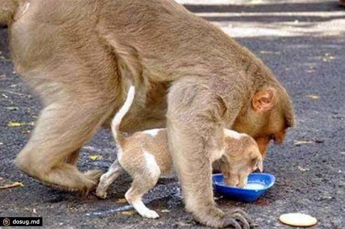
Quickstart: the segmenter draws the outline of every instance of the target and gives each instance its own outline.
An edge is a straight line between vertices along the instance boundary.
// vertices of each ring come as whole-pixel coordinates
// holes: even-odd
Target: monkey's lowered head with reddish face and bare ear
[[[232,129],[253,137],[265,157],[271,140],[282,143],[286,129],[293,126],[294,111],[289,95],[282,86],[267,86],[253,94]]]

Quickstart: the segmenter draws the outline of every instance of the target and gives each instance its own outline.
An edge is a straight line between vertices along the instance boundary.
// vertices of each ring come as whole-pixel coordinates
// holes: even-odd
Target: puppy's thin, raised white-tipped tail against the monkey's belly
[[[114,139],[117,142],[120,142],[122,140],[121,134],[120,134],[120,123],[122,118],[127,114],[127,112],[129,111],[129,109],[131,108],[131,105],[133,103],[134,100],[134,95],[135,95],[135,87],[134,86],[130,86],[130,89],[128,90],[127,93],[127,98],[125,103],[123,104],[123,106],[121,107],[120,111],[118,111],[114,118],[112,119],[111,122],[111,131],[112,131],[112,135],[114,137]]]

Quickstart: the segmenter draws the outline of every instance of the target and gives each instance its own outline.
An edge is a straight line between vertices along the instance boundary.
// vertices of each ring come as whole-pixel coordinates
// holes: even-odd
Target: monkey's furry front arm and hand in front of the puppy
[[[242,210],[225,213],[213,200],[210,150],[222,132],[217,122],[219,104],[204,87],[175,83],[168,95],[169,147],[182,187],[187,211],[204,225],[249,229],[250,217]],[[218,123],[218,124],[217,124]]]

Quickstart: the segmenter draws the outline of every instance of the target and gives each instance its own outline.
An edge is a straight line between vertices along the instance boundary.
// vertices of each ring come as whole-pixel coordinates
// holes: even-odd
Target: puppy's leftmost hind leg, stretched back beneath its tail
[[[106,190],[108,189],[109,185],[121,174],[123,174],[125,170],[120,165],[119,161],[116,160],[109,168],[108,172],[104,173],[101,176],[100,183],[98,184],[96,195],[100,198],[106,198]]]

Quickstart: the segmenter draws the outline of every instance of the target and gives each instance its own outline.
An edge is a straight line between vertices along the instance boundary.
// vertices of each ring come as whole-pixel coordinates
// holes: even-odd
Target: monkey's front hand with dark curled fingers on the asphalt
[[[250,216],[239,208],[224,213],[220,208],[212,206],[204,213],[197,212],[194,218],[212,228],[250,229],[254,227]]]

